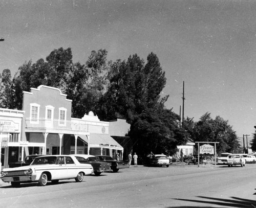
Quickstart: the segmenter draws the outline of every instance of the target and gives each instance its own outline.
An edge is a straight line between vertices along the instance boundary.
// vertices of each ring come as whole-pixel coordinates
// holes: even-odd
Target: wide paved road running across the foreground
[[[38,187],[0,183],[0,207],[256,207],[256,165],[131,167]]]

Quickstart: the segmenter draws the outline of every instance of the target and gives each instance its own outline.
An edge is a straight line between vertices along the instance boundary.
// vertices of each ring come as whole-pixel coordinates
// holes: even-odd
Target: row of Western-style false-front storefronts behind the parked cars
[[[23,92],[23,110],[0,109],[2,168],[29,154],[100,154],[123,157],[109,122],[89,112],[72,118],[72,100],[60,89],[40,85]],[[1,130],[0,129],[0,130]]]

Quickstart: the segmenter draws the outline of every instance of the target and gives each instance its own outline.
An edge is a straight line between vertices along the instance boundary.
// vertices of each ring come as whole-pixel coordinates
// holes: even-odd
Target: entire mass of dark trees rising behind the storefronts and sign
[[[23,91],[47,85],[59,88],[73,101],[74,118],[92,110],[101,121],[125,119],[131,124],[128,135],[133,149],[141,155],[173,154],[177,145],[188,140],[220,142],[219,152],[239,146],[236,132],[219,116],[211,119],[205,113],[198,122],[187,118],[180,126],[179,115],[164,106],[168,96],[161,97],[161,92],[166,78],[156,54],[148,54],[146,61],[137,54],[108,61],[107,55],[100,49],[92,51],[84,64],[73,63],[71,48],[59,48],[46,60],[25,61],[13,79],[6,69],[0,76],[0,105],[22,109]]]

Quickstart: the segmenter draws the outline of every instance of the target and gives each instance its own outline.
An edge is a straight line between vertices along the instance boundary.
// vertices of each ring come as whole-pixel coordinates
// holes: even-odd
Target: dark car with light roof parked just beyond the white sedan
[[[95,175],[100,175],[103,172],[111,171],[110,163],[99,161],[98,157],[90,154],[73,154],[81,164],[91,164]]]

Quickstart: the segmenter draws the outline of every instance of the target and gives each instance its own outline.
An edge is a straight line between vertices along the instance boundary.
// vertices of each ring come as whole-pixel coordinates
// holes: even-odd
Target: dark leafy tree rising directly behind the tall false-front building
[[[18,73],[13,79],[16,97],[14,106],[17,109],[22,109],[23,91],[29,91],[31,87],[43,84],[58,87],[65,92],[67,77],[72,66],[71,49],[55,49],[46,60],[45,62],[44,59],[39,59],[34,64],[30,60],[18,68]]]

